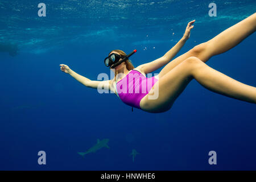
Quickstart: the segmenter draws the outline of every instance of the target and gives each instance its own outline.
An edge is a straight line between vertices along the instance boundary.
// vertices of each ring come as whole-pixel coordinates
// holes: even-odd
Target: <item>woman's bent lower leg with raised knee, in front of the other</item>
[[[205,88],[213,92],[256,103],[256,88],[242,84],[203,63],[197,57],[189,57],[163,77],[159,78],[147,96],[141,100],[142,110],[159,113],[171,108],[176,98],[183,92],[188,83],[195,78]],[[158,86],[158,89],[155,89]],[[158,98],[150,100],[158,90]]]

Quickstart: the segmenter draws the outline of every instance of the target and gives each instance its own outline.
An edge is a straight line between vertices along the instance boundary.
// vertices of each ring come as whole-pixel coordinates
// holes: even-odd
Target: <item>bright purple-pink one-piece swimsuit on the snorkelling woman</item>
[[[141,109],[139,103],[150,92],[152,86],[158,81],[155,77],[147,78],[137,70],[130,71],[125,77],[116,82],[118,97],[125,104]]]

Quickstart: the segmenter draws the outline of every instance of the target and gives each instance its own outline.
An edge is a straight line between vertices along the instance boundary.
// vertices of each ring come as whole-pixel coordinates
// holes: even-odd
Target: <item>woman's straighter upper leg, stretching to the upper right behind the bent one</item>
[[[234,46],[237,46],[237,44],[255,32],[255,30],[256,13],[221,32],[208,42],[201,43],[190,51],[172,60],[162,69],[162,71],[160,71],[159,78],[166,75],[171,69],[175,68],[178,64],[191,56],[198,57],[205,63],[210,57],[226,52]]]

